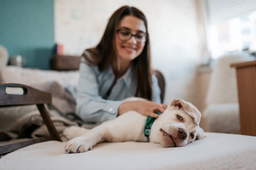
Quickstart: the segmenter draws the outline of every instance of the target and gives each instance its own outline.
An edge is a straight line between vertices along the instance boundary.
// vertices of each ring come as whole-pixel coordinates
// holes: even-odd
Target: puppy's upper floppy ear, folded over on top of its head
[[[185,100],[173,100],[171,106],[178,106],[179,108],[182,107],[185,113],[191,116],[196,125],[199,126],[201,113],[193,104],[186,102]]]

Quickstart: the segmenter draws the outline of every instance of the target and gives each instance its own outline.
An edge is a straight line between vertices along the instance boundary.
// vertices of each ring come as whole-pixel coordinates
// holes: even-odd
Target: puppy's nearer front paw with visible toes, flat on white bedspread
[[[76,137],[67,142],[65,151],[69,153],[82,153],[91,150],[93,142],[86,140],[84,137]]]

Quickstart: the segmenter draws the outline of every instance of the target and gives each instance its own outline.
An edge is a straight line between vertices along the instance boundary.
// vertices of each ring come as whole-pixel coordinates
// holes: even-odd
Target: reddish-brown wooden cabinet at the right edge
[[[241,134],[256,136],[256,60],[236,67]]]

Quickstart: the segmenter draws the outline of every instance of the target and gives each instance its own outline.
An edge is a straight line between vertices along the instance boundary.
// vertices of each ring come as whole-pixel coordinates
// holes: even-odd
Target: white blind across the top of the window
[[[256,11],[256,0],[205,0],[211,24]]]

